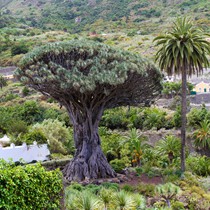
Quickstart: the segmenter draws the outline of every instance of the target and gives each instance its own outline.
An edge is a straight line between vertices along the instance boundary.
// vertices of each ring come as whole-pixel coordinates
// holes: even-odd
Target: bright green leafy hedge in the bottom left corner
[[[62,174],[40,164],[15,166],[0,161],[0,209],[60,209]]]

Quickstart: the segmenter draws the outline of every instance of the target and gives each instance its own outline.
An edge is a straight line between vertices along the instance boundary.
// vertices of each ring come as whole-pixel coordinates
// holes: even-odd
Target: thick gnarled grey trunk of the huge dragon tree
[[[79,113],[72,114],[74,113],[71,109],[69,115],[74,126],[76,152],[63,170],[64,177],[69,181],[115,177],[116,173],[109,165],[100,146],[98,123],[102,113],[94,115],[94,119],[87,113],[85,115],[83,113],[82,117]],[[77,119],[75,119],[76,116]]]

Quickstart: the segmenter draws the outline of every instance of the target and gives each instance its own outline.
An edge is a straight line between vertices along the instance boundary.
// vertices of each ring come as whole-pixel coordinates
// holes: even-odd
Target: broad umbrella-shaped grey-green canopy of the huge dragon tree
[[[84,95],[90,105],[136,105],[160,91],[160,73],[137,54],[90,41],[53,43],[35,49],[16,72],[24,84],[79,107]]]

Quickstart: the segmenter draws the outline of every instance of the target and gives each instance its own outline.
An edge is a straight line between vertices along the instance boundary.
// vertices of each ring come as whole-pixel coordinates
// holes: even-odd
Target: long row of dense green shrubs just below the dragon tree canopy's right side
[[[110,129],[137,128],[149,130],[151,128],[172,128],[171,120],[167,120],[167,113],[159,108],[121,107],[106,110],[101,125]]]

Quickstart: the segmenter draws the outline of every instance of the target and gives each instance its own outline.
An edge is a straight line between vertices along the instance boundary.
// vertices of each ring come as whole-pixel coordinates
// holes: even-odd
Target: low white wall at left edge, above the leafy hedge
[[[50,151],[47,148],[47,144],[37,145],[34,142],[33,145],[26,145],[24,143],[22,146],[15,146],[14,144],[11,144],[10,147],[0,146],[0,158],[6,161],[11,158],[14,162],[20,159],[23,159],[27,163],[33,160],[44,161],[48,160],[48,155],[50,155]]]

